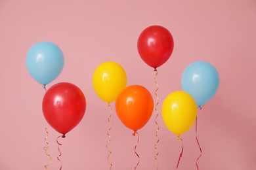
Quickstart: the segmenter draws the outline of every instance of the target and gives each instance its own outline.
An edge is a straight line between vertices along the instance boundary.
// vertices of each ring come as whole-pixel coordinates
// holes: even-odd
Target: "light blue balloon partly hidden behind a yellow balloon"
[[[219,73],[211,63],[196,61],[184,69],[181,76],[184,92],[192,95],[196,105],[202,106],[209,101],[219,88]]]

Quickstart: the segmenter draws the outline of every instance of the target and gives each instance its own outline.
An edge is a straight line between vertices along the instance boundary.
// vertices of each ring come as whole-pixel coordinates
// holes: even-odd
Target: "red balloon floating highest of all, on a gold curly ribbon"
[[[144,29],[137,42],[140,58],[155,70],[171,57],[173,46],[173,36],[160,25]]]

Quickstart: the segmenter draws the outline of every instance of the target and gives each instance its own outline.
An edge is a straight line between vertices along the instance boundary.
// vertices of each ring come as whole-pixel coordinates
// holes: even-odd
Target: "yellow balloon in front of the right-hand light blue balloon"
[[[165,126],[178,137],[194,124],[197,115],[196,101],[186,92],[170,93],[162,105],[162,118]]]

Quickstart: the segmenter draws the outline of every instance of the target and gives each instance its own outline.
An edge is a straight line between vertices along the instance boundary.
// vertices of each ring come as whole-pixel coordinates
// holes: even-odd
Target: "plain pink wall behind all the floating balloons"
[[[62,169],[109,169],[106,134],[111,109],[93,90],[92,76],[104,61],[116,61],[127,73],[127,86],[147,88],[156,102],[155,72],[137,52],[137,39],[150,25],[162,25],[172,33],[171,58],[158,68],[160,142],[158,169],[176,169],[181,141],[161,119],[163,99],[181,90],[181,74],[193,61],[215,65],[220,75],[216,95],[198,110],[200,169],[256,169],[255,63],[256,1],[0,1],[0,169],[45,169],[45,127],[41,111],[45,91],[29,75],[26,54],[39,41],[52,41],[64,52],[58,82],[77,85],[87,99],[81,123],[60,139]],[[114,108],[114,103],[112,103]],[[140,129],[137,169],[156,169],[156,112]],[[113,170],[134,169],[137,137],[123,126],[113,110]],[[59,169],[56,137],[48,129],[52,156],[49,169]],[[184,152],[179,169],[196,169],[200,155],[195,126],[182,135]]]

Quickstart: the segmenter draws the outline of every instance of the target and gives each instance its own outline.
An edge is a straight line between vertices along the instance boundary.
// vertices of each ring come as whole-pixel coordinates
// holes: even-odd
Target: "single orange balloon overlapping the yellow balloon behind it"
[[[133,135],[150,120],[153,109],[152,95],[143,86],[127,86],[116,99],[117,116]]]

